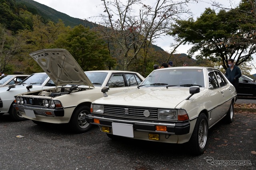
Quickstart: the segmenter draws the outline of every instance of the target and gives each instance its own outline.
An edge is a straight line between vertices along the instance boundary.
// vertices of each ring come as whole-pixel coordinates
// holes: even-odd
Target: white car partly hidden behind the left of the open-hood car
[[[8,87],[0,88],[0,115],[9,113],[15,121],[26,120],[12,106],[14,104],[14,96],[24,92],[52,88],[52,86],[55,86],[54,82],[50,80],[45,72],[41,72],[28,76],[16,85],[12,84]]]

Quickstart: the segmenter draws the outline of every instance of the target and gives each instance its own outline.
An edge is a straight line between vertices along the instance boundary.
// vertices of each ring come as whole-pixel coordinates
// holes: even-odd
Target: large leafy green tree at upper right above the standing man
[[[207,8],[196,21],[178,20],[169,34],[194,45],[189,50],[190,57],[198,53],[196,59],[221,62],[226,70],[228,59],[233,58],[239,66],[251,61],[256,52],[255,20],[252,13],[248,15],[250,11],[248,0],[242,0],[236,9],[220,10],[218,14]],[[251,19],[242,20],[246,16]]]

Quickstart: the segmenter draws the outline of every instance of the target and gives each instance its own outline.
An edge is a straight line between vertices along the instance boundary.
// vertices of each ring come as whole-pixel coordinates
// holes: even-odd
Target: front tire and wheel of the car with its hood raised
[[[74,133],[84,133],[92,127],[92,124],[85,119],[88,114],[90,114],[90,107],[88,106],[80,106],[74,110],[69,121],[70,128]]]

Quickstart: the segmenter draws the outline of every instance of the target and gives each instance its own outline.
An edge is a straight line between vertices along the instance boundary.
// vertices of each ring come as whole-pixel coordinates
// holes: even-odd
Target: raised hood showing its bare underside
[[[56,86],[80,84],[94,87],[66,49],[42,49],[29,54]]]

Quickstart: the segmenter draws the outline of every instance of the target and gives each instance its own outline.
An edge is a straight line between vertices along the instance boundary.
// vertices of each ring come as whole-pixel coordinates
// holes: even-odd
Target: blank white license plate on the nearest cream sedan
[[[134,137],[133,125],[124,123],[112,123],[113,135],[124,136],[124,137]]]

